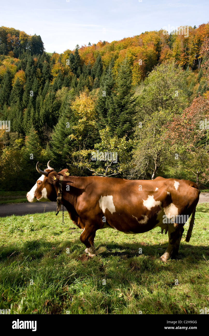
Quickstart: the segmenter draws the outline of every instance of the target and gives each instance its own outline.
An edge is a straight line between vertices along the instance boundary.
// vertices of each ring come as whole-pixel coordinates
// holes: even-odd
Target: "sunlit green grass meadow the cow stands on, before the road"
[[[190,243],[184,242],[185,224],[179,258],[167,263],[159,259],[168,244],[160,228],[139,235],[98,230],[97,255],[90,258],[67,212],[65,223],[52,212],[0,218],[1,309],[10,308],[11,314],[199,314],[209,307],[209,204],[198,205]]]

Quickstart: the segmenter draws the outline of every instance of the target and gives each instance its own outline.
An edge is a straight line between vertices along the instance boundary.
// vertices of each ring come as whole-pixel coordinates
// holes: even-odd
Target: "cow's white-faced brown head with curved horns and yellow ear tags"
[[[50,162],[50,161],[49,161]],[[52,201],[56,202],[57,192],[56,181],[60,175],[63,175],[68,169],[63,169],[59,173],[56,173],[53,168],[47,163],[47,169],[44,171],[39,168],[39,163],[36,164],[36,170],[41,174],[41,177],[37,180],[33,188],[27,193],[27,199],[29,202],[46,202]],[[56,181],[53,179],[53,175],[57,176]]]

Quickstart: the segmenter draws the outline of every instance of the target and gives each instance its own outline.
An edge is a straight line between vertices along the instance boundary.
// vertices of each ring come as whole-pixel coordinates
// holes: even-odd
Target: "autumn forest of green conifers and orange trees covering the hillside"
[[[49,160],[76,176],[208,186],[209,23],[187,29],[50,54],[0,27],[0,190],[29,190]]]

